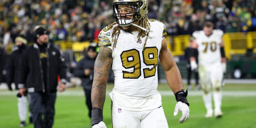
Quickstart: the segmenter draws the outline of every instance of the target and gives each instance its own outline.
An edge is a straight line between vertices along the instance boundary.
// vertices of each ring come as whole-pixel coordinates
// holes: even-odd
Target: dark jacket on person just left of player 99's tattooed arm
[[[82,80],[82,86],[84,89],[91,89],[93,86],[93,75],[94,75],[94,63],[96,58],[91,59],[87,55],[77,62],[75,68],[75,76],[80,77]],[[89,75],[84,74],[85,69],[91,69],[91,73]]]

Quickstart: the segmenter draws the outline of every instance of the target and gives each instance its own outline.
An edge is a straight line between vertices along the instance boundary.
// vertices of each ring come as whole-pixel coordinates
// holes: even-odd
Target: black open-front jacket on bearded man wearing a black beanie
[[[39,46],[34,43],[22,55],[18,88],[25,87],[28,92],[56,91],[58,75],[60,76],[60,82],[66,83],[66,65],[59,50],[48,43],[45,51],[47,53],[47,83],[45,84],[43,80]],[[25,84],[27,79],[28,82]],[[45,85],[47,86],[45,87]]]

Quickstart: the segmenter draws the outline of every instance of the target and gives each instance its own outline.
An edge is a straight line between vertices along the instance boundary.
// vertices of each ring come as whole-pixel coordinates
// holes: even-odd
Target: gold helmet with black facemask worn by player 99
[[[124,5],[131,8],[130,13],[119,13],[119,6]],[[113,11],[116,19],[116,23],[122,27],[130,26],[133,22],[136,22],[142,18],[140,14],[140,9],[143,6],[141,0],[136,2],[114,2]]]

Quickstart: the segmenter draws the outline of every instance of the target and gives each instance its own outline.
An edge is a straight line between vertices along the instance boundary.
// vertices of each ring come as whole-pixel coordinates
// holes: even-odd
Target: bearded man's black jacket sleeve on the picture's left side
[[[29,73],[29,66],[28,66],[28,55],[27,52],[23,53],[22,58],[20,60],[20,66],[19,66],[19,77],[18,77],[18,88],[26,88],[26,81],[27,76]]]

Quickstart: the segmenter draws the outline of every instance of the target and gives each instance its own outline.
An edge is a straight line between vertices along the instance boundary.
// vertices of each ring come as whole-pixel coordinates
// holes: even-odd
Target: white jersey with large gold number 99
[[[99,46],[113,50],[112,70],[115,75],[114,88],[110,93],[113,104],[129,111],[151,110],[161,105],[157,91],[157,65],[161,42],[166,33],[165,25],[149,20],[151,28],[143,51],[146,36],[137,43],[138,31],[125,32],[122,29],[113,48],[113,28],[106,27],[99,34]]]

